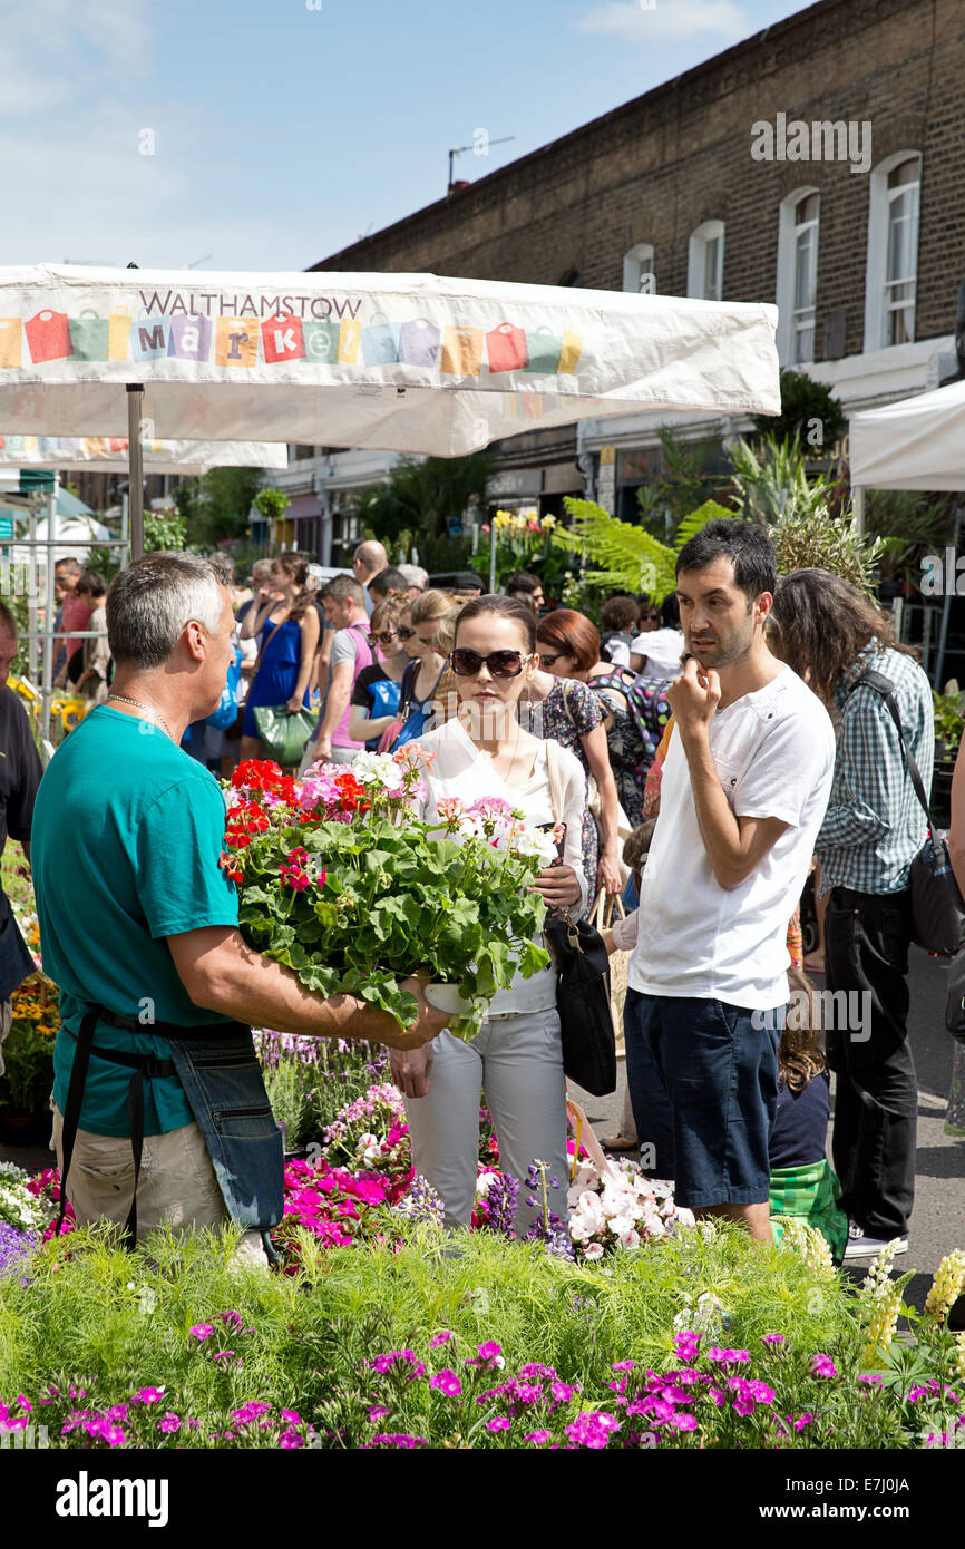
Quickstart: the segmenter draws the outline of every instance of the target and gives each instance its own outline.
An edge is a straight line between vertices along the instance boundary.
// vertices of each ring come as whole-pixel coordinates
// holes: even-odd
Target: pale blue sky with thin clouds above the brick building
[[[0,263],[300,270],[787,0],[2,0]]]

